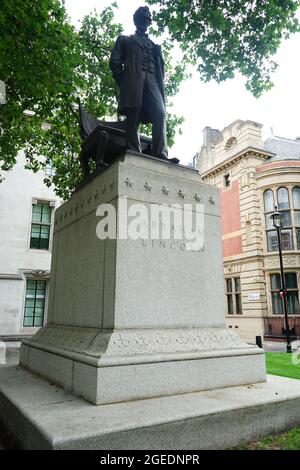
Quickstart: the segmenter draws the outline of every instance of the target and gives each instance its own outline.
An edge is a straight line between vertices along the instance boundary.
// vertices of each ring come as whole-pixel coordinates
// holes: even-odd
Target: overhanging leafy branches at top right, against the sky
[[[246,77],[259,97],[272,87],[272,59],[281,40],[299,31],[295,0],[148,0],[158,33],[168,31],[204,82]]]

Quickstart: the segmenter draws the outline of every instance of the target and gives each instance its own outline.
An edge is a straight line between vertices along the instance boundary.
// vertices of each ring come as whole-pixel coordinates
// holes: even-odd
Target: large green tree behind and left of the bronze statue
[[[2,0],[0,6],[0,79],[6,84],[0,106],[0,171],[13,168],[19,150],[33,171],[51,164],[45,177],[67,198],[82,177],[78,161],[81,139],[70,111],[80,97],[85,108],[103,119],[117,109],[118,89],[109,70],[110,51],[122,32],[114,20],[115,4],[93,12],[79,31],[69,24],[62,0]],[[183,64],[171,65],[167,48],[167,95],[183,80]],[[26,117],[25,110],[34,115]],[[182,118],[169,115],[169,144]],[[42,156],[42,157],[41,157]]]

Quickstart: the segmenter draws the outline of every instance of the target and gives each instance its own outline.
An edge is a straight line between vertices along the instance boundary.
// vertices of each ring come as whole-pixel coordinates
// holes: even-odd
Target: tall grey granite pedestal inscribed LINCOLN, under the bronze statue
[[[103,204],[127,219],[116,239],[98,237]],[[203,245],[126,239],[134,204],[198,211]],[[127,153],[56,211],[48,323],[20,363],[97,405],[264,381],[263,351],[225,328],[223,282],[218,190]]]

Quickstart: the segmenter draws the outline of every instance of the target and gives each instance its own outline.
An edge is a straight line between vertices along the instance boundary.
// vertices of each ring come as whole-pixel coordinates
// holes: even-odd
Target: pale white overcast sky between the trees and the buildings
[[[111,4],[108,0],[65,0],[72,22],[78,21],[93,9],[101,11]],[[125,34],[134,32],[132,15],[144,5],[141,0],[119,0],[117,21],[123,24]],[[300,15],[298,15],[300,16]],[[157,39],[155,39],[158,42]],[[200,82],[195,72],[192,79],[181,85],[173,108],[185,118],[183,135],[177,136],[170,156],[182,163],[192,160],[202,144],[202,130],[206,126],[223,129],[236,119],[250,119],[264,125],[263,136],[273,133],[294,139],[300,136],[300,34],[284,41],[277,54],[279,67],[273,75],[274,87],[256,99],[244,86],[244,79],[236,77],[225,83]]]

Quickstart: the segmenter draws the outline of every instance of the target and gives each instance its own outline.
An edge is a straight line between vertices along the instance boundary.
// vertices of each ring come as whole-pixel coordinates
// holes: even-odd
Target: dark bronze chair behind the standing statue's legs
[[[96,162],[96,173],[126,151],[125,121],[99,121],[79,103],[82,147],[79,155],[85,176],[90,174],[89,160]],[[141,136],[142,152],[151,155],[151,139]]]

